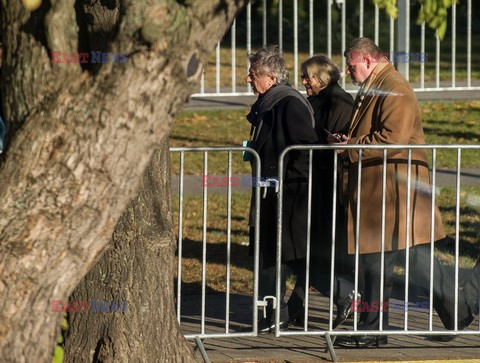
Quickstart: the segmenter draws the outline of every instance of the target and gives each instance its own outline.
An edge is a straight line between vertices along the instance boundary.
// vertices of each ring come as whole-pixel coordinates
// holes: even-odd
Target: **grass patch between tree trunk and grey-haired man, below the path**
[[[174,221],[178,231],[178,196],[173,197]],[[206,285],[214,291],[226,291],[227,262],[227,198],[212,194],[208,197],[207,229],[203,231],[202,196],[186,195],[183,201],[182,283],[184,292],[198,292],[201,286],[203,240],[206,246]],[[251,293],[253,289],[253,258],[249,256],[248,213],[250,194],[232,194],[230,291]]]

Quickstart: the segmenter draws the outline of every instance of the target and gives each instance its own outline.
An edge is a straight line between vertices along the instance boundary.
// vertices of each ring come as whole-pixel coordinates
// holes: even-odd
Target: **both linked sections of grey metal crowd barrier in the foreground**
[[[382,204],[379,206],[382,211],[382,251],[381,251],[381,292],[380,292],[380,299],[379,301],[383,301],[383,275],[384,275],[384,243],[385,243],[385,211],[387,208],[386,205],[386,199],[385,199],[385,190],[386,190],[386,170],[387,170],[387,153],[393,150],[399,150],[399,149],[405,149],[408,150],[408,160],[407,162],[407,178],[406,178],[406,185],[407,187],[407,223],[405,225],[406,228],[406,235],[409,236],[410,234],[408,233],[409,228],[412,228],[411,225],[409,225],[409,201],[411,198],[411,184],[412,184],[412,175],[411,175],[411,166],[412,166],[412,151],[417,150],[417,149],[422,149],[422,150],[431,150],[431,189],[429,192],[431,193],[431,220],[434,219],[434,209],[435,209],[435,196],[436,196],[436,191],[437,191],[437,186],[436,186],[436,176],[437,176],[437,151],[438,150],[453,150],[457,152],[457,161],[456,161],[456,191],[455,191],[455,291],[454,291],[454,299],[455,299],[455,322],[454,326],[455,329],[453,331],[450,330],[439,330],[434,328],[434,318],[433,318],[433,276],[434,276],[434,269],[433,269],[433,256],[434,256],[434,249],[433,249],[433,239],[434,239],[434,227],[432,223],[431,227],[431,242],[430,242],[430,261],[431,264],[429,266],[430,270],[430,291],[429,291],[429,299],[428,299],[428,328],[426,329],[416,329],[412,328],[409,326],[409,311],[405,311],[404,315],[404,326],[403,328],[397,329],[397,330],[384,330],[382,326],[382,317],[383,317],[383,312],[380,310],[380,327],[378,330],[359,330],[357,327],[357,311],[353,311],[353,330],[334,330],[333,329],[333,294],[334,294],[334,274],[335,274],[335,243],[336,243],[336,200],[337,200],[337,173],[333,172],[333,201],[332,201],[332,248],[331,248],[331,271],[330,271],[330,297],[329,297],[329,307],[328,307],[328,326],[325,326],[324,324],[322,326],[316,326],[316,328],[312,327],[309,325],[309,268],[310,268],[310,232],[311,232],[311,205],[312,205],[312,187],[315,183],[313,180],[313,153],[318,152],[320,150],[332,150],[332,149],[357,149],[359,151],[359,162],[358,162],[358,190],[357,190],[357,209],[359,210],[358,214],[356,215],[356,225],[357,228],[359,226],[359,221],[360,221],[360,215],[361,215],[361,210],[360,210],[360,195],[361,195],[361,178],[362,178],[362,152],[367,149],[376,149],[376,150],[383,150],[383,172],[382,172]],[[260,175],[260,159],[258,154],[249,148],[244,148],[244,147],[198,147],[198,148],[171,148],[170,149],[172,152],[179,152],[180,153],[180,176],[179,176],[179,218],[178,218],[178,238],[179,238],[179,244],[178,244],[178,271],[177,271],[177,317],[178,317],[178,322],[182,325],[184,324],[184,321],[182,320],[182,246],[183,246],[183,198],[184,198],[184,157],[185,153],[188,152],[203,152],[204,153],[204,164],[203,164],[203,175],[208,175],[209,174],[209,168],[208,168],[208,155],[210,153],[218,153],[218,152],[223,152],[223,153],[228,153],[228,162],[227,162],[227,180],[229,181],[228,184],[226,185],[227,187],[227,226],[226,226],[226,244],[227,244],[227,258],[225,262],[222,262],[225,264],[226,268],[226,292],[225,292],[225,301],[222,303],[225,303],[225,316],[224,319],[222,320],[219,317],[218,311],[217,314],[215,315],[215,319],[212,323],[212,319],[210,319],[210,323],[212,326],[214,326],[214,329],[211,331],[206,331],[206,309],[207,309],[207,304],[206,304],[206,265],[207,265],[207,259],[206,259],[206,250],[207,250],[207,215],[208,215],[208,207],[207,207],[207,199],[208,199],[208,188],[203,187],[202,189],[202,202],[203,202],[203,218],[202,218],[202,273],[201,273],[201,306],[200,306],[200,323],[197,325],[200,325],[200,330],[197,332],[189,332],[185,336],[188,339],[195,339],[201,352],[202,355],[204,356],[204,359],[208,361],[208,357],[206,356],[206,353],[203,348],[203,343],[201,339],[206,339],[206,338],[227,338],[227,337],[247,337],[247,336],[257,336],[258,333],[258,308],[260,307],[265,307],[266,303],[263,300],[259,300],[259,229],[263,228],[264,226],[261,226],[260,223],[260,198],[261,198],[261,187],[268,187],[268,183],[257,183],[254,185],[254,190],[255,190],[255,248],[254,248],[254,264],[253,264],[253,297],[250,300],[250,302],[244,302],[246,304],[249,304],[249,307],[251,307],[251,329],[247,328],[242,329],[241,331],[234,330],[232,331],[231,326],[230,326],[230,256],[231,256],[231,197],[232,197],[232,185],[231,185],[231,178],[232,178],[232,153],[234,152],[240,152],[240,151],[249,151],[253,154],[255,161],[256,161],[256,175]],[[459,298],[459,242],[460,242],[460,194],[461,194],[461,165],[462,165],[462,151],[478,151],[480,150],[480,145],[375,145],[375,146],[367,146],[367,145],[343,145],[343,146],[327,146],[327,145],[295,145],[291,146],[283,151],[279,158],[279,175],[283,175],[284,172],[284,158],[285,156],[293,151],[293,150],[305,150],[305,152],[308,152],[310,155],[310,163],[309,163],[309,179],[308,179],[308,200],[309,200],[309,211],[308,211],[308,235],[307,235],[307,263],[306,263],[306,285],[305,285],[305,291],[306,291],[306,296],[305,296],[305,302],[304,302],[304,314],[305,314],[305,322],[303,325],[303,329],[301,330],[289,330],[289,331],[281,331],[280,330],[280,309],[275,309],[275,336],[286,336],[286,335],[317,335],[317,336],[323,336],[326,341],[327,341],[327,346],[328,350],[331,354],[332,360],[336,360],[335,356],[335,350],[333,348],[333,339],[335,339],[336,336],[344,336],[344,335],[426,335],[426,336],[434,336],[434,335],[478,335],[480,333],[480,326],[477,328],[477,330],[458,330],[458,298]],[[337,154],[334,154],[334,166],[333,170],[337,170],[337,165],[338,165],[338,157]],[[271,185],[270,185],[271,186]],[[281,268],[281,255],[282,255],[282,247],[281,247],[281,241],[282,241],[282,203],[283,203],[283,186],[284,186],[284,181],[283,178],[279,178],[279,191],[278,191],[278,216],[277,216],[277,252],[276,252],[276,258],[277,258],[277,271],[280,271]],[[480,183],[478,185],[480,187]],[[477,205],[477,207],[479,207]],[[317,222],[318,223],[318,222]],[[356,250],[355,250],[355,273],[354,273],[354,278],[353,278],[353,284],[354,284],[354,289],[355,289],[355,295],[357,295],[359,291],[359,239],[358,239],[358,230],[356,233]],[[405,293],[404,293],[404,301],[403,301],[403,306],[408,306],[409,302],[409,243],[408,243],[408,238],[407,237],[407,243],[406,243],[406,260],[405,260]],[[199,256],[198,256],[199,257]],[[218,261],[217,261],[218,263]],[[479,276],[480,278],[480,276]],[[276,280],[276,302],[278,306],[278,302],[282,300],[281,296],[281,286],[280,286],[280,274],[277,273],[277,280]],[[250,305],[251,304],[251,305]],[[213,309],[218,310],[218,306],[213,306]],[[197,309],[198,310],[198,309]],[[187,314],[188,315],[188,314]],[[249,320],[250,321],[250,320]],[[241,323],[245,324],[247,322],[242,321]],[[248,324],[248,323],[247,323]],[[220,326],[224,327],[224,330],[220,330]],[[216,329],[215,329],[216,328]],[[235,327],[238,328],[238,325]],[[333,339],[332,339],[333,337]]]

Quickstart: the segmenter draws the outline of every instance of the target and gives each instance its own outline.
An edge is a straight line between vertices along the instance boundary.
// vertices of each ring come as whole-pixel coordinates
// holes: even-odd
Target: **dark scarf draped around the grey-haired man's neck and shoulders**
[[[265,113],[269,112],[280,100],[287,96],[293,96],[302,101],[302,103],[310,110],[310,118],[312,120],[312,127],[315,127],[315,118],[313,117],[313,109],[310,103],[305,98],[288,84],[282,82],[270,88],[263,95],[258,96],[257,101],[252,105],[250,113],[247,115],[247,120],[255,127],[261,126],[261,121]]]

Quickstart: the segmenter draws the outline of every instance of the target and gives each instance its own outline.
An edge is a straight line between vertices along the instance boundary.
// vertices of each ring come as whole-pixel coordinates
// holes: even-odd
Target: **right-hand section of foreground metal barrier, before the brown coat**
[[[335,242],[336,242],[336,200],[337,200],[337,163],[338,163],[338,155],[337,153],[334,154],[334,167],[333,170],[333,204],[332,204],[332,246],[331,246],[331,271],[330,271],[330,300],[329,300],[329,318],[328,318],[328,329],[316,329],[312,330],[308,327],[308,314],[309,314],[309,301],[308,301],[308,293],[305,297],[305,324],[303,331],[281,331],[280,330],[280,309],[275,311],[275,336],[287,336],[287,335],[319,335],[324,336],[327,340],[328,350],[332,356],[332,359],[336,361],[335,351],[333,348],[333,341],[331,337],[337,336],[362,336],[362,335],[370,335],[370,336],[379,336],[379,335],[422,335],[422,336],[434,336],[434,335],[478,335],[480,334],[480,322],[479,326],[476,330],[458,330],[458,306],[459,306],[459,241],[460,241],[460,190],[461,190],[461,182],[460,182],[460,175],[461,175],[461,156],[462,150],[480,150],[480,145],[343,145],[343,146],[325,146],[325,145],[317,145],[317,146],[302,146],[302,145],[295,145],[286,148],[279,157],[279,175],[284,175],[284,160],[285,155],[288,152],[293,150],[308,150],[310,153],[310,165],[309,165],[309,180],[308,180],[308,199],[309,199],[309,216],[311,218],[311,198],[312,198],[312,153],[314,150],[329,150],[329,149],[354,149],[358,150],[359,161],[357,164],[357,173],[358,179],[356,180],[357,185],[357,205],[356,205],[356,221],[355,221],[355,273],[354,273],[354,295],[357,296],[359,292],[359,235],[360,235],[360,217],[361,217],[361,185],[362,185],[362,152],[365,150],[381,150],[383,151],[383,163],[382,163],[382,203],[379,206],[381,208],[381,270],[380,270],[380,298],[379,302],[384,301],[384,270],[385,270],[385,216],[386,216],[386,176],[387,176],[387,153],[393,150],[408,150],[408,159],[407,159],[407,178],[406,178],[406,186],[407,186],[407,196],[406,196],[406,242],[405,242],[405,297],[403,301],[403,306],[407,307],[409,303],[409,250],[410,247],[410,230],[412,226],[410,225],[410,201],[412,199],[412,150],[431,150],[432,151],[432,183],[431,189],[429,186],[422,186],[422,188],[427,187],[429,190],[428,193],[431,194],[431,206],[430,206],[430,219],[431,219],[431,230],[430,230],[430,291],[429,291],[429,318],[428,318],[428,329],[415,329],[408,326],[408,316],[409,311],[406,309],[404,311],[404,326],[402,329],[397,330],[385,330],[383,329],[383,309],[380,306],[379,309],[379,329],[378,330],[358,330],[357,329],[357,311],[356,309],[353,310],[353,330],[333,330],[332,323],[333,323],[333,301],[334,301],[334,276],[335,276]],[[457,166],[456,166],[456,205],[455,205],[455,291],[454,291],[454,330],[438,330],[433,328],[433,277],[434,277],[434,214],[435,214],[435,195],[436,195],[436,158],[437,158],[437,150],[456,150],[457,151]],[[283,210],[283,177],[280,178],[280,188],[279,188],[279,203],[278,203],[278,219],[277,219],[277,293],[276,298],[277,301],[282,299],[281,296],[281,281],[280,281],[280,271],[281,264],[282,264],[282,210]],[[480,186],[480,182],[479,182]],[[307,248],[308,251],[310,250],[310,224],[309,224],[309,234],[307,235]],[[399,227],[402,228],[402,227]],[[307,263],[306,263],[306,286],[305,291],[308,292],[310,284],[308,281],[309,274],[309,254],[307,254]],[[478,276],[480,280],[480,275]],[[480,281],[479,281],[480,282]],[[368,283],[368,282],[365,282]],[[478,288],[478,285],[477,285]],[[448,292],[450,293],[450,292]],[[477,292],[478,293],[478,292]],[[477,297],[480,300],[480,296]],[[480,301],[477,301],[477,304]],[[380,303],[381,304],[381,303]],[[477,312],[478,315],[478,312]]]

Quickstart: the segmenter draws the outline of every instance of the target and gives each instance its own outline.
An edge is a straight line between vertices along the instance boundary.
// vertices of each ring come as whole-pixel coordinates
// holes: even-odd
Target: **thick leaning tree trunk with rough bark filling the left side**
[[[29,12],[1,0],[9,127],[0,160],[3,360],[51,360],[61,319],[51,300],[66,301],[107,247],[153,150],[244,3],[43,0]],[[52,51],[85,50],[101,35],[102,49],[126,52],[128,62],[52,63]]]

